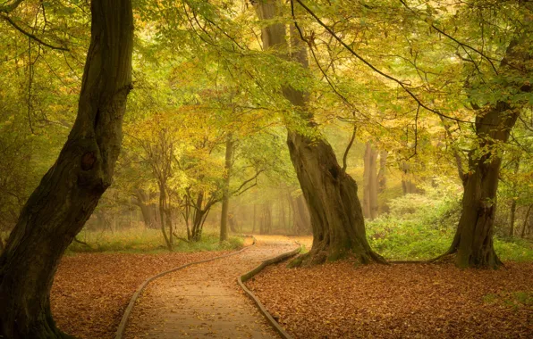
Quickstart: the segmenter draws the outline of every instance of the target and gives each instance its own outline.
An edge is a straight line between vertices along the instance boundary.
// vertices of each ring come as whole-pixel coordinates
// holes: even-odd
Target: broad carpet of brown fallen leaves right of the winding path
[[[296,338],[533,337],[533,263],[281,264],[247,285]]]

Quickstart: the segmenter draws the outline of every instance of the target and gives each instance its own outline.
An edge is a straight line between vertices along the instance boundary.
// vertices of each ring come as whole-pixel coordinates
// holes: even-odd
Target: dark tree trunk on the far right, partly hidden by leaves
[[[525,10],[527,4],[522,8]],[[528,10],[531,11],[530,7]],[[527,30],[512,40],[508,46],[500,73],[527,78],[531,75],[531,32]],[[518,48],[517,48],[518,47]],[[518,74],[517,74],[518,73]],[[515,84],[520,92],[531,92],[529,82]],[[478,150],[488,150],[480,157],[473,151],[469,154],[469,173],[463,178],[461,219],[453,243],[446,254],[456,254],[459,267],[497,268],[501,261],[493,245],[496,211],[496,191],[502,158],[493,150],[497,143],[506,143],[518,120],[521,103],[507,101],[486,104],[476,117]],[[494,152],[494,153],[493,153]]]

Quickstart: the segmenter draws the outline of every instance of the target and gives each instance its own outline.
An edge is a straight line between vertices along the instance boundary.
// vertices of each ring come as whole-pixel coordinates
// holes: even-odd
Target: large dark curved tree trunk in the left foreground
[[[63,252],[111,185],[131,90],[130,0],[92,0],[78,116],[0,257],[0,337],[59,338],[50,288]]]

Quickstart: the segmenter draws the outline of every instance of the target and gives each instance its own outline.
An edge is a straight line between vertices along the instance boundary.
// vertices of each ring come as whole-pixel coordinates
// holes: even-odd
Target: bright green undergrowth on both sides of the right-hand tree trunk
[[[407,194],[389,204],[390,212],[367,221],[372,248],[387,260],[428,260],[443,254],[452,244],[461,217],[457,196]],[[494,237],[501,260],[533,261],[529,240]]]

